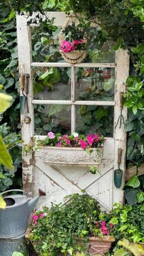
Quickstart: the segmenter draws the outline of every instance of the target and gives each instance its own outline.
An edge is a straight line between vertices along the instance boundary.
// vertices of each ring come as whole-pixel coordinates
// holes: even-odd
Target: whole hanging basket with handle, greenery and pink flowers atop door
[[[68,18],[59,34],[60,53],[66,62],[78,64],[86,57],[89,28],[90,23],[79,23],[73,16]]]

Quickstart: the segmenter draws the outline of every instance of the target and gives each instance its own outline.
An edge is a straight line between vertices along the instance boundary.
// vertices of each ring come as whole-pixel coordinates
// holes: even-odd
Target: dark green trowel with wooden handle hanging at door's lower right
[[[123,170],[120,169],[122,148],[118,148],[118,169],[114,171],[114,183],[116,188],[120,188],[123,179]]]

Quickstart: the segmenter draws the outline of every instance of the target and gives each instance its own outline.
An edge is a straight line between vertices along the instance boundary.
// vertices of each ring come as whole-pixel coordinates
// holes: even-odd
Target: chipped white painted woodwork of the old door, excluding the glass
[[[61,12],[49,13],[49,18],[56,16],[56,25],[62,26],[65,23],[67,16]],[[29,116],[32,122],[27,125],[24,123],[24,115],[21,115],[22,123],[22,138],[24,144],[31,142],[34,137],[34,104],[72,104],[72,132],[75,131],[75,107],[76,105],[98,105],[98,106],[113,106],[114,108],[114,135],[113,138],[106,138],[104,142],[103,161],[100,166],[101,175],[90,174],[88,167],[71,167],[71,166],[49,166],[48,163],[43,161],[40,152],[34,152],[33,158],[30,153],[28,156],[23,156],[23,185],[27,192],[35,196],[38,188],[46,191],[46,197],[41,197],[38,202],[37,208],[41,205],[51,206],[51,202],[62,202],[63,197],[73,192],[81,193],[81,189],[99,200],[101,206],[105,210],[110,210],[114,202],[121,202],[123,200],[123,191],[115,188],[113,183],[113,171],[117,169],[117,150],[121,144],[123,148],[121,169],[125,172],[125,156],[126,156],[126,133],[124,126],[121,129],[115,128],[118,117],[120,115],[120,100],[119,93],[124,90],[124,83],[128,77],[129,72],[129,56],[126,51],[122,49],[117,51],[116,62],[113,64],[87,64],[81,63],[74,66],[67,63],[35,63],[31,61],[31,33],[26,26],[26,16],[17,16],[17,32],[18,32],[18,55],[19,55],[19,70],[20,73],[26,72],[31,74],[32,67],[72,67],[73,84],[71,90],[73,92],[70,101],[55,101],[55,100],[33,100],[32,95],[32,79],[28,95],[29,103]],[[75,101],[74,98],[74,68],[76,67],[113,67],[115,73],[115,100],[114,101]],[[24,71],[23,71],[24,70]],[[123,108],[123,116],[126,119],[126,108]],[[45,136],[35,136],[45,137]],[[124,184],[124,175],[123,175]]]

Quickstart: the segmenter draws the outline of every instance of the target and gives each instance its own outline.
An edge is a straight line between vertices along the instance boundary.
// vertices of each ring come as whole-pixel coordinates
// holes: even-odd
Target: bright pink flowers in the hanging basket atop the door
[[[74,40],[73,42],[63,40],[62,44],[60,45],[60,49],[62,53],[70,53],[71,51],[74,51],[76,49],[84,48],[85,43],[86,42],[84,39]]]

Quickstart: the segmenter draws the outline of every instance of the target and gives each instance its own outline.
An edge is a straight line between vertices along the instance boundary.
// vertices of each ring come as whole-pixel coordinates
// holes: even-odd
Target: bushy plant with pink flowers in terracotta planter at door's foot
[[[101,221],[96,199],[87,194],[65,197],[65,205],[44,207],[32,216],[26,238],[38,255],[104,255],[114,238],[113,225]]]

